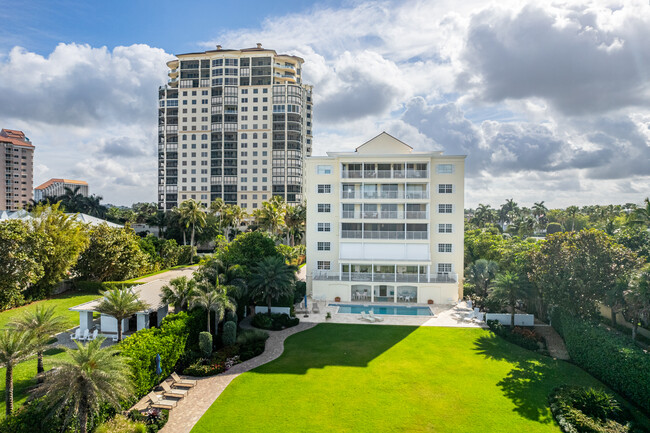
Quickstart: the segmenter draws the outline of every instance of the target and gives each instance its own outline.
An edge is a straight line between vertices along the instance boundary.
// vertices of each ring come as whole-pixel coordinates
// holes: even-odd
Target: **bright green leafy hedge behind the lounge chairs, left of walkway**
[[[187,344],[190,317],[184,313],[163,319],[160,328],[143,329],[120,343],[121,355],[133,373],[136,397],[147,394],[174,371]],[[197,333],[198,335],[198,333]],[[156,375],[155,358],[160,354],[162,375]]]

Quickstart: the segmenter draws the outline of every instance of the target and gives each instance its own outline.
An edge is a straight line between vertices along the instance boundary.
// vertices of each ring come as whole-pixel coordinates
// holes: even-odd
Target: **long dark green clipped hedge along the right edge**
[[[574,363],[650,413],[650,355],[631,338],[557,308],[551,323]]]

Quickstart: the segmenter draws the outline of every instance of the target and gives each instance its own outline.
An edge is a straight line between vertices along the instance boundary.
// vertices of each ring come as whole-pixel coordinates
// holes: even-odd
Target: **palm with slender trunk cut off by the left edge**
[[[0,365],[5,374],[6,414],[14,410],[14,365],[33,353],[34,335],[29,331],[3,329],[0,331]]]

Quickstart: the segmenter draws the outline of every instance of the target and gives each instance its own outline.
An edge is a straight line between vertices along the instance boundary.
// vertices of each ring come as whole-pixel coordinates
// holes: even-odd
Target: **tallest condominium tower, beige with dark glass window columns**
[[[247,211],[303,201],[312,87],[300,57],[244,48],[179,54],[158,93],[158,204],[216,198]]]

